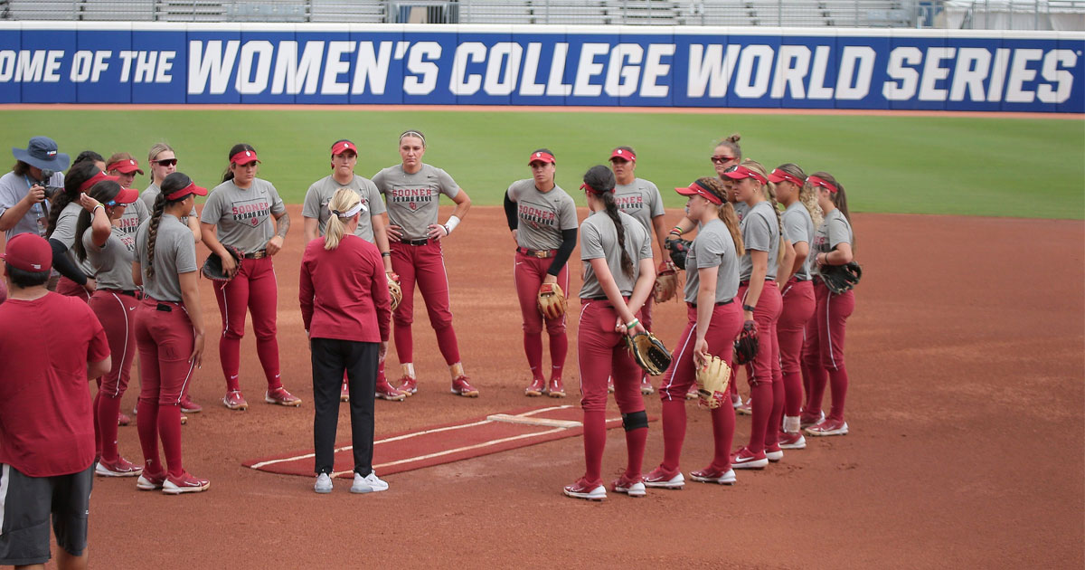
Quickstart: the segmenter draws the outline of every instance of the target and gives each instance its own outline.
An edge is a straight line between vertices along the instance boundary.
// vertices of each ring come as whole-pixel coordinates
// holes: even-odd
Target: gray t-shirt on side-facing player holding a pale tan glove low
[[[735,299],[739,292],[739,258],[735,240],[722,219],[713,219],[701,227],[697,239],[686,254],[686,302],[697,303],[701,274],[698,269],[717,267],[716,303]]]

